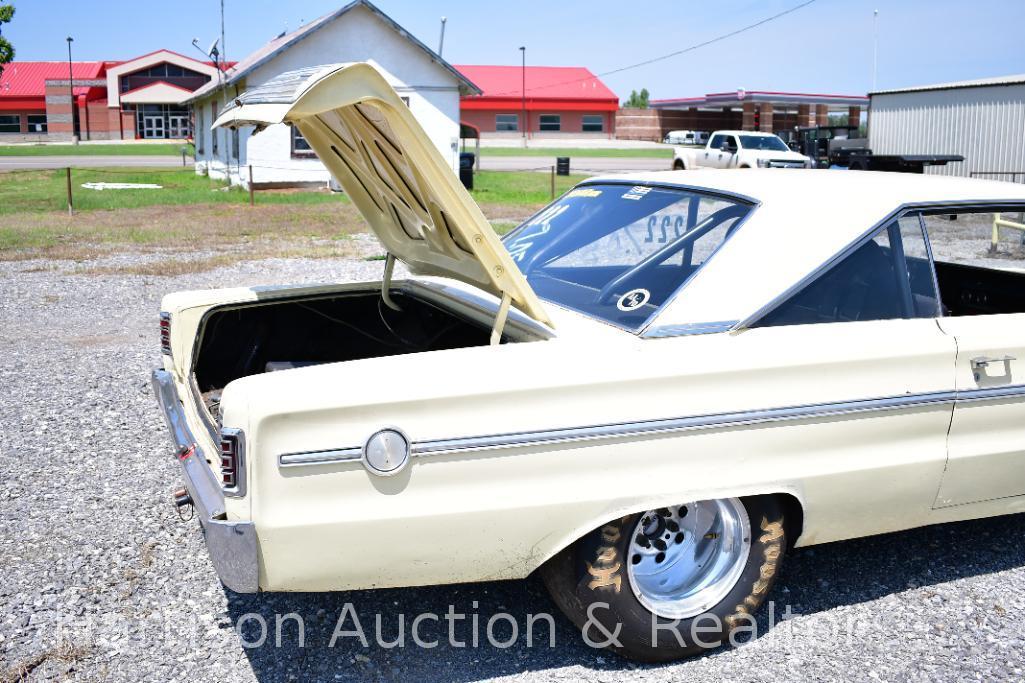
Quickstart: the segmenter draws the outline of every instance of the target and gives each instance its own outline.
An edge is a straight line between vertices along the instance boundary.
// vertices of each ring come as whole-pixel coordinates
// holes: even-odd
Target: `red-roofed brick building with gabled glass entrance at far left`
[[[217,69],[170,50],[127,62],[12,62],[0,74],[0,142],[184,138],[184,101]],[[74,84],[74,93],[69,88]]]

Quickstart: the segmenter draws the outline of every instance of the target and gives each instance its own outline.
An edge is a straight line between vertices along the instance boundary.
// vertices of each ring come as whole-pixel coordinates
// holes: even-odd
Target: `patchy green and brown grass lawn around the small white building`
[[[561,194],[584,176],[557,176]],[[88,260],[111,249],[242,249],[247,258],[341,257],[366,222],[344,195],[326,190],[225,190],[192,170],[95,168],[73,171],[75,214],[68,215],[64,169],[0,172],[0,260]],[[499,234],[548,203],[548,173],[485,171],[473,196]],[[161,190],[87,190],[83,183],[150,183]],[[241,257],[232,251],[196,268]],[[234,255],[232,255],[234,254]],[[190,266],[193,268],[193,266]],[[159,270],[159,269],[157,269]],[[167,274],[163,271],[139,274]]]

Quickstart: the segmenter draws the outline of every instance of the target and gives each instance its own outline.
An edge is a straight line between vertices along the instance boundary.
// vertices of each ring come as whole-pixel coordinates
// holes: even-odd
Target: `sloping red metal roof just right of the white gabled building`
[[[480,98],[519,97],[524,92],[523,67],[456,65],[482,90]],[[528,99],[610,99],[619,97],[583,67],[527,67]],[[476,98],[476,97],[475,97]]]

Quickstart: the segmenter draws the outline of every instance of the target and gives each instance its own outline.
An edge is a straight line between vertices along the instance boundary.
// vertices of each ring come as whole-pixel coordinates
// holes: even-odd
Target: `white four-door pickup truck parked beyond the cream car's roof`
[[[813,168],[814,162],[793,152],[778,135],[750,130],[716,130],[708,144],[673,149],[672,167],[694,168]]]

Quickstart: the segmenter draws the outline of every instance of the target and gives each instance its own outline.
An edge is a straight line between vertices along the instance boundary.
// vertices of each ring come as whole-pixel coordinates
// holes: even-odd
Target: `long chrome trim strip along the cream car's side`
[[[1006,390],[1009,388],[1004,388]],[[1017,394],[1025,396],[1025,386],[1018,386]],[[985,390],[990,391],[990,390]],[[996,397],[995,395],[993,396]],[[980,397],[984,398],[984,397]],[[877,399],[856,401],[840,401],[834,403],[815,403],[809,405],[789,406],[784,408],[768,408],[765,410],[741,410],[737,412],[711,413],[686,417],[667,417],[662,419],[639,420],[631,423],[614,423],[608,425],[591,425],[587,427],[571,427],[565,429],[539,430],[535,432],[516,432],[509,434],[493,434],[485,436],[460,437],[455,439],[435,439],[414,442],[412,455],[441,455],[463,453],[477,450],[496,450],[524,446],[547,445],[555,443],[596,441],[630,436],[651,436],[690,432],[697,430],[724,429],[748,425],[831,417],[854,413],[879,412],[905,408],[950,405],[957,399],[957,393],[932,392],[926,394],[906,394]],[[334,465],[338,463],[357,461],[360,458],[360,448],[351,447],[337,450],[321,450],[306,453],[285,453],[278,456],[280,467]]]

